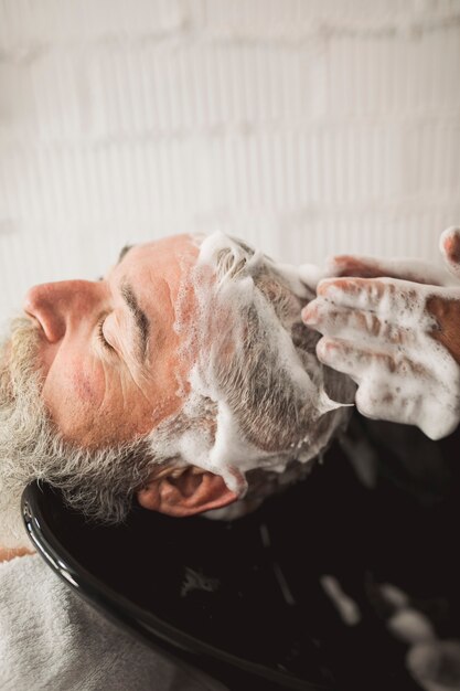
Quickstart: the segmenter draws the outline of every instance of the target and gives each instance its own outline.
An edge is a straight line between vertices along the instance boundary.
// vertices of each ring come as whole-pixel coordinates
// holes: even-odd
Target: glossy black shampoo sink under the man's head
[[[303,482],[233,522],[136,506],[125,524],[98,525],[36,482],[22,500],[31,539],[69,587],[235,691],[418,689],[375,588],[391,582],[419,600],[441,598],[450,616],[440,626],[457,632],[459,503],[418,502],[385,472],[368,490],[339,446]],[[342,620],[324,574],[357,604],[360,621]]]

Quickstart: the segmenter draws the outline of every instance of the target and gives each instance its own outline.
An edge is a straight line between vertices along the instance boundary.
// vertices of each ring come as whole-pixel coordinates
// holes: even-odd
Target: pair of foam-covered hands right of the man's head
[[[324,364],[357,384],[359,411],[432,439],[460,422],[460,228],[440,238],[448,270],[418,261],[333,259],[302,311]]]

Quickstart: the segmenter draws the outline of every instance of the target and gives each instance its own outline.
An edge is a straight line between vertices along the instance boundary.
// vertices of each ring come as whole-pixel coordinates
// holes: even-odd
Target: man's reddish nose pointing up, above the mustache
[[[99,297],[99,284],[89,280],[41,284],[28,291],[24,311],[36,319],[46,340],[56,343],[72,325],[90,316]]]

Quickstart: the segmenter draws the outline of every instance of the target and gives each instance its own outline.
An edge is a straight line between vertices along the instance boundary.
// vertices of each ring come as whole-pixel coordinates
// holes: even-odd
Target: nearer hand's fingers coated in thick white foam
[[[321,359],[352,376],[367,417],[417,425],[431,439],[452,433],[460,419],[460,368],[435,338],[439,327],[427,309],[439,288],[341,280],[346,289],[338,283],[319,288],[317,328],[327,336]],[[443,299],[459,299],[458,288],[441,290]]]

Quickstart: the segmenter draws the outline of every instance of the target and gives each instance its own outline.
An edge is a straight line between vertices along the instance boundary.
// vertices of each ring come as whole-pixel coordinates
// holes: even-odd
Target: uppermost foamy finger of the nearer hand
[[[318,286],[318,296],[334,305],[374,311],[406,326],[419,322],[427,291],[426,286],[396,278],[327,278]]]

